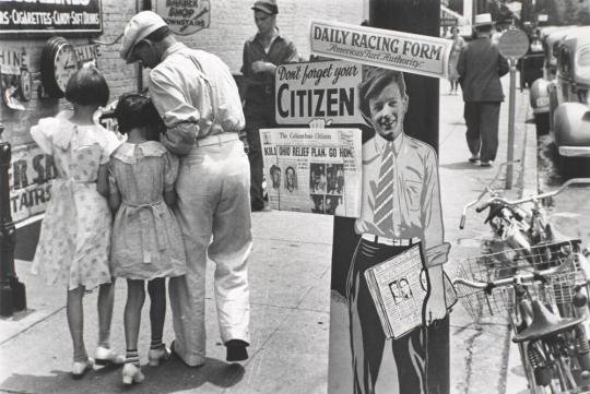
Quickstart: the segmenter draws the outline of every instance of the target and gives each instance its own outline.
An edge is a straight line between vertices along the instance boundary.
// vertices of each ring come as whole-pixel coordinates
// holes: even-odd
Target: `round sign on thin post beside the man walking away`
[[[516,63],[529,50],[529,37],[518,28],[503,33],[498,40],[498,50],[510,64],[510,94],[508,99],[508,165],[506,166],[506,189],[512,189],[512,162],[515,159],[515,97]]]

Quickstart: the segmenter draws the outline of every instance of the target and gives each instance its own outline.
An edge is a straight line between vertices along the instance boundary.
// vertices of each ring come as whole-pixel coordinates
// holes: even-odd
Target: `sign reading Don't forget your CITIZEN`
[[[276,69],[276,122],[307,124],[314,119],[332,124],[363,123],[358,111],[359,64],[318,61]]]

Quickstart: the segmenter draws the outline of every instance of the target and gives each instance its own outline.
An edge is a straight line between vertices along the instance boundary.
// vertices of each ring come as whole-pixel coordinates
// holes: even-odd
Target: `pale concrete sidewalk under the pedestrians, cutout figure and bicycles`
[[[507,80],[507,79],[505,79]],[[505,92],[508,92],[507,81]],[[463,104],[460,96],[440,91],[440,182],[446,238],[451,242],[447,271],[455,276],[460,259],[480,253],[481,239],[489,235],[483,216],[472,213],[465,230],[459,230],[461,210],[495,175],[497,166],[484,169],[467,163]],[[527,92],[517,92],[517,143],[515,155],[534,141],[524,126]],[[497,163],[506,157],[508,105],[500,115],[500,147]],[[531,136],[532,135],[532,136]],[[529,146],[529,150],[531,147]],[[532,147],[534,152],[534,147]],[[527,153],[528,155],[529,153]],[[515,183],[522,171],[515,168]],[[524,177],[529,178],[529,176]],[[514,193],[520,189],[515,188]],[[243,366],[224,360],[219,339],[214,302],[208,299],[208,351],[204,367],[190,369],[173,359],[158,368],[144,367],[146,380],[126,389],[119,369],[96,369],[82,381],[71,379],[71,343],[68,333],[66,290],[48,288],[28,274],[30,263],[15,262],[26,284],[28,308],[22,315],[0,320],[0,392],[5,393],[285,393],[324,394],[328,375],[330,256],[332,219],[328,216],[269,212],[253,214],[255,250],[250,259],[251,332],[250,359]],[[213,266],[208,284],[212,283]],[[113,346],[123,350],[122,310],[126,285],[116,287]],[[213,297],[213,289],[208,288]],[[96,295],[86,297],[86,344],[96,341]],[[140,336],[142,363],[149,348],[148,300]],[[168,317],[165,341],[173,339]],[[451,315],[451,393],[504,393],[509,338],[506,325],[475,329],[458,306]],[[335,393],[334,393],[335,394]]]

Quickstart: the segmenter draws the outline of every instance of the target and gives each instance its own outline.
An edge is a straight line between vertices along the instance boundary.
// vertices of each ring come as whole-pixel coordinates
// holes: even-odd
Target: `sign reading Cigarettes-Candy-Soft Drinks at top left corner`
[[[0,35],[103,33],[101,0],[0,0]]]

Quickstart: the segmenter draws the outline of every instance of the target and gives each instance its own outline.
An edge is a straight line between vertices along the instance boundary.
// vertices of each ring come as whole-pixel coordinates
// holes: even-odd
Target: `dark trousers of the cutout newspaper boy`
[[[362,239],[354,253],[349,272],[346,294],[349,295],[355,394],[375,393],[375,384],[386,345],[386,336],[364,273],[367,268],[408,249],[410,247],[390,247]],[[428,342],[427,366],[425,366],[426,356],[422,327],[413,330],[401,338],[391,341],[391,350],[398,368],[400,392],[403,394],[449,392],[449,348],[448,341],[442,339],[449,335],[448,315],[437,325],[430,326],[426,331]],[[440,346],[440,344],[447,345]],[[424,368],[427,368],[427,372],[424,372]],[[424,377],[428,378],[427,382],[423,381]],[[427,391],[425,385],[428,387]]]

